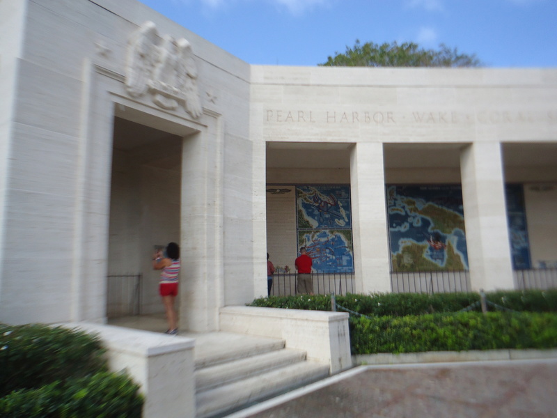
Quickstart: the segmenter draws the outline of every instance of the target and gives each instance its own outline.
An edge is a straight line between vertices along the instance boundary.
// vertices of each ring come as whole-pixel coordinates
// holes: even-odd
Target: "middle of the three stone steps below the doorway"
[[[271,371],[278,367],[302,362],[305,359],[304,351],[284,349],[204,367],[196,371],[196,392],[249,378],[262,371]]]

